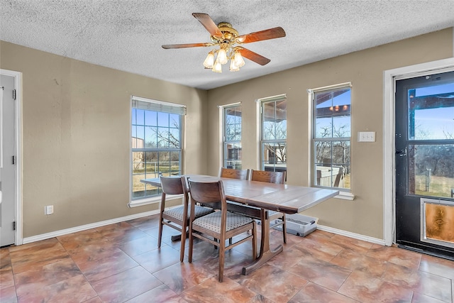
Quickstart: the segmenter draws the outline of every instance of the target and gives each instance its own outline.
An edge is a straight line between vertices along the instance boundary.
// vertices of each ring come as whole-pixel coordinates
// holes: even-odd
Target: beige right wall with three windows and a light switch
[[[219,165],[219,105],[243,104],[243,167],[258,169],[256,99],[287,94],[289,184],[308,185],[309,102],[307,89],[352,82],[352,192],[354,201],[330,199],[305,214],[319,224],[383,239],[383,72],[453,56],[452,28],[350,53],[209,91],[209,166]],[[246,64],[254,64],[246,62]],[[271,62],[272,64],[272,62]],[[374,143],[358,143],[358,131],[375,131]],[[392,190],[392,189],[389,189]]]

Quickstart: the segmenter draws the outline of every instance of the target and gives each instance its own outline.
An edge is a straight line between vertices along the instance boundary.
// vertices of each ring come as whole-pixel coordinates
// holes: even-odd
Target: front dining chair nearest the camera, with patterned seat
[[[253,260],[257,257],[257,227],[255,220],[248,216],[227,211],[227,200],[222,180],[196,182],[189,179],[188,182],[192,200],[189,220],[189,263],[192,263],[194,237],[214,244],[218,248],[219,254],[218,280],[222,282],[226,250],[230,250],[238,244],[251,239],[253,242]],[[196,203],[214,204],[218,202],[221,204],[220,211],[195,218],[194,207]],[[251,233],[246,233],[246,231],[251,231]],[[235,243],[226,245],[228,238],[233,238],[241,233],[245,233],[244,237],[240,237]]]

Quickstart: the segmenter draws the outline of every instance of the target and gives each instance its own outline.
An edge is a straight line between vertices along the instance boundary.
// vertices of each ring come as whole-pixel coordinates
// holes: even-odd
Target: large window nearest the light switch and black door
[[[312,101],[312,184],[350,189],[351,84],[309,89]]]

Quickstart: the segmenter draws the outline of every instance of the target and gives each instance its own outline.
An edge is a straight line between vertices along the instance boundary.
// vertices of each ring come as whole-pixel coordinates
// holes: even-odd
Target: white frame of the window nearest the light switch
[[[352,83],[351,82],[345,82],[345,83],[341,83],[341,84],[335,84],[335,85],[330,85],[330,86],[326,86],[326,87],[319,87],[319,88],[316,88],[316,89],[308,89],[307,92],[308,92],[308,96],[309,96],[309,108],[310,108],[310,127],[309,127],[309,138],[310,138],[310,149],[309,149],[309,167],[311,167],[311,170],[309,172],[309,180],[310,180],[310,186],[311,187],[318,187],[318,188],[326,188],[326,189],[336,189],[339,191],[339,195],[336,196],[337,198],[341,198],[341,199],[351,199],[353,200],[354,199],[354,196],[352,194],[352,187],[351,187],[351,172],[352,172],[352,163],[351,163],[351,149],[352,149],[352,138],[353,138],[353,128],[352,128],[352,111],[351,111],[351,106],[352,106],[352,97],[351,97],[351,92],[352,92]],[[317,116],[316,116],[316,104],[315,104],[315,99],[316,99],[316,94],[319,94],[319,93],[328,93],[328,92],[336,92],[338,90],[341,90],[341,89],[350,89],[350,108],[348,109],[349,110],[349,116],[350,116],[350,136],[349,137],[335,137],[335,136],[331,136],[331,137],[328,137],[328,138],[317,138],[316,137],[316,119],[317,119]],[[332,128],[332,124],[331,124],[331,129]],[[334,141],[343,141],[343,142],[348,142],[349,144],[349,158],[350,158],[350,162],[349,162],[349,166],[350,166],[350,187],[349,188],[343,188],[343,187],[333,187],[333,182],[334,180],[332,179],[333,178],[333,175],[331,175],[331,186],[326,186],[326,185],[320,185],[320,184],[317,184],[316,182],[316,178],[317,178],[317,169],[316,169],[316,166],[319,162],[317,162],[317,159],[316,159],[316,143],[317,142],[328,142],[328,143],[332,143]],[[331,166],[333,165],[333,157],[332,157],[332,153],[331,153],[331,162],[330,162]]]

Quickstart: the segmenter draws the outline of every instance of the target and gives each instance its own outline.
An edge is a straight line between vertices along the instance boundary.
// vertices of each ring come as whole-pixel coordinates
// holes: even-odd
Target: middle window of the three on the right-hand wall
[[[287,171],[287,98],[260,99],[262,170]]]

